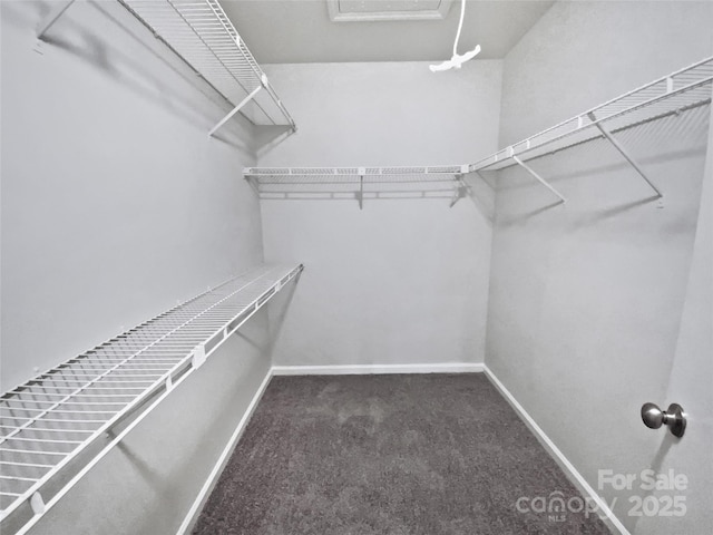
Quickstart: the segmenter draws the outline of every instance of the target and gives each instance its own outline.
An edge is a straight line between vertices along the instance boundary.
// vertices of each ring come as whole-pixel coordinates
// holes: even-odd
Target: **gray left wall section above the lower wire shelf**
[[[2,2],[3,390],[262,261],[251,129],[115,3]]]

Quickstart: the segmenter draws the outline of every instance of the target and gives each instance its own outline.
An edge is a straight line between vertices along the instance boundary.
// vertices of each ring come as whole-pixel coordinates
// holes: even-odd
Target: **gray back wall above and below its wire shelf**
[[[300,130],[260,165],[462,164],[496,149],[499,61],[442,75],[424,62],[265,69]],[[482,362],[490,222],[468,200],[448,206],[263,201],[265,257],[305,264],[274,362]]]

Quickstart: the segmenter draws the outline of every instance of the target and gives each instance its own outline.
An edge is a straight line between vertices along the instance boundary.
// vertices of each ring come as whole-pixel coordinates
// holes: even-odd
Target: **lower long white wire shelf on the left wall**
[[[150,411],[302,270],[265,265],[231,279],[2,395],[2,533],[53,505],[66,492],[53,478],[105,455],[116,441],[97,454],[98,439]]]

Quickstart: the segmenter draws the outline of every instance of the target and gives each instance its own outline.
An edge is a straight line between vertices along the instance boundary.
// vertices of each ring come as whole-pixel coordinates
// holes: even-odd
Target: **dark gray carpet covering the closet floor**
[[[194,534],[609,533],[516,508],[554,492],[579,496],[481,373],[275,377]]]

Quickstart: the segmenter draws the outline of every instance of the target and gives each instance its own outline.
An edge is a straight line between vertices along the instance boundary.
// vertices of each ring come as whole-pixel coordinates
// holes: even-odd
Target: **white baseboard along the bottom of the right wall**
[[[518,402],[517,399],[510,393],[510,391],[500,382],[500,380],[492,373],[490,368],[487,364],[484,364],[484,371],[488,380],[492,383],[495,388],[499,390],[502,397],[510,403],[510,407],[515,409],[515,411],[520,416],[520,418],[525,421],[527,427],[533,431],[533,434],[537,437],[543,447],[549,453],[549,455],[555,459],[555,461],[559,465],[559,467],[565,471],[565,474],[569,477],[569,480],[578,488],[578,490],[584,495],[590,497],[599,507],[599,510],[604,515],[602,518],[605,524],[609,527],[609,529],[615,529],[621,535],[631,535],[628,529],[622,524],[622,522],[614,515],[614,512],[609,508],[609,506],[604,502],[602,496],[587,483],[587,480],[579,474],[577,468],[569,463],[569,459],[565,457],[565,454],[555,446],[555,442],[545,434],[545,431],[537,425],[537,422],[533,419],[533,417],[525,410],[525,408]]]

